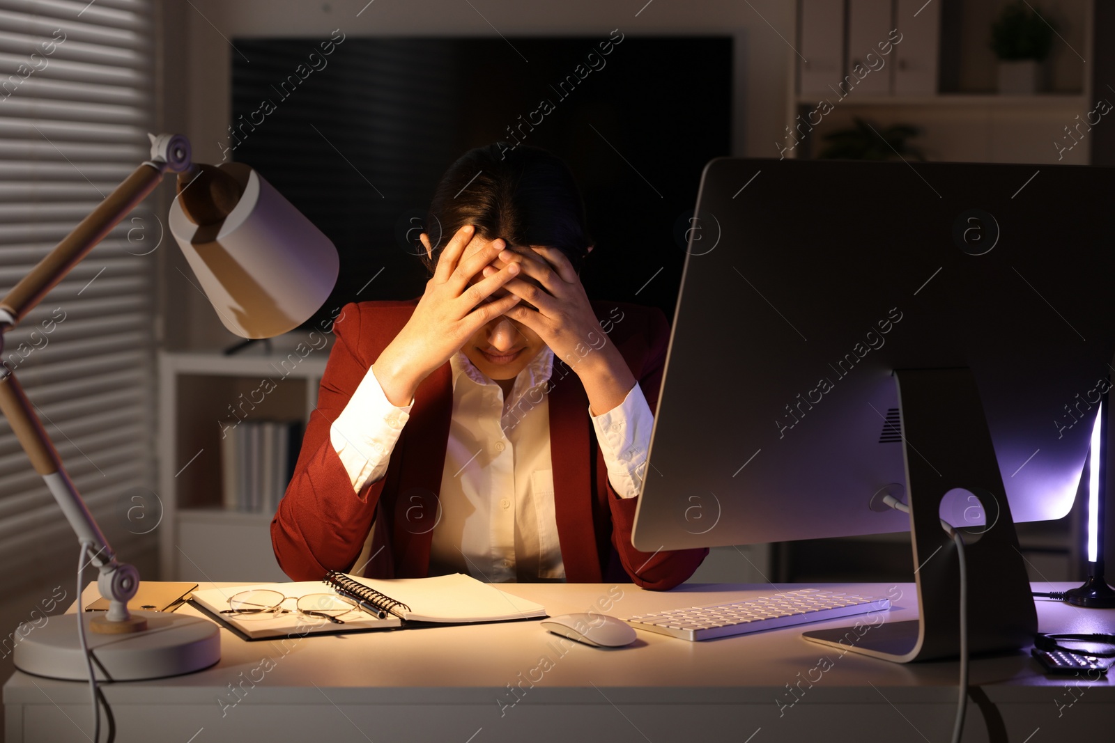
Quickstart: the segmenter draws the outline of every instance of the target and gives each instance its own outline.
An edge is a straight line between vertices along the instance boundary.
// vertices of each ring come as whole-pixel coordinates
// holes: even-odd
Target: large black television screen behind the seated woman
[[[687,211],[705,164],[730,150],[731,38],[626,37],[603,56],[608,38],[349,37],[285,98],[280,84],[320,56],[316,42],[234,40],[252,61],[233,55],[233,123],[264,99],[277,109],[244,127],[229,158],[255,167],[341,257],[333,294],[304,325],[345,302],[419,296],[427,274],[406,239],[410,218],[425,222],[456,158],[510,139],[507,127],[517,136],[544,98],[554,110],[522,141],[561,157],[581,186],[597,245],[582,272],[589,296],[672,317]],[[590,52],[604,66],[581,80],[574,68]],[[579,82],[562,98],[566,76]]]

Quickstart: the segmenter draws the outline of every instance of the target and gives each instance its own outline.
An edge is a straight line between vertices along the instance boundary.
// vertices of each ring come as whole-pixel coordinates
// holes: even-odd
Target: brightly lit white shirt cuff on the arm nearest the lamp
[[[345,410],[329,427],[329,441],[345,466],[355,492],[387,473],[391,450],[399,440],[403,427],[410,420],[410,408],[414,407],[414,400],[405,408],[392,405],[384,394],[374,369],[375,365],[363,375]]]

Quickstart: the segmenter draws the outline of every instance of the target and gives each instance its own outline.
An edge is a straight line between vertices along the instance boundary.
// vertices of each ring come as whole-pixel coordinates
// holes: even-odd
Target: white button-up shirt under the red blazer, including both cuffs
[[[500,385],[456,353],[453,414],[439,512],[430,542],[430,574],[465,573],[493,583],[563,579],[550,460],[553,372],[549,348],[515,378],[507,400]],[[372,366],[374,369],[374,366]],[[369,370],[371,372],[371,370]],[[575,384],[572,372],[553,385]],[[353,492],[382,478],[411,403],[398,408],[375,373],[366,373],[330,427],[330,442]],[[639,384],[614,409],[592,416],[608,479],[622,498],[639,495],[653,416]]]

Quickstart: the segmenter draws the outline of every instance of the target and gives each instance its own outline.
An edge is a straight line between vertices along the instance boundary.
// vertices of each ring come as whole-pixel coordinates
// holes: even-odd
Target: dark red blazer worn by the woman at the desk
[[[372,517],[374,557],[363,575],[405,578],[428,574],[433,529],[415,528],[419,521],[411,511],[417,505],[427,508],[432,517],[436,504],[421,502],[414,493],[436,493],[442,487],[453,410],[448,362],[418,387],[410,419],[391,451],[387,475],[379,481],[353,493],[348,472],[329,440],[332,421],[348,404],[371,363],[409,320],[416,304],[350,303],[333,324],[337,340],[321,378],[318,407],[307,424],[294,477],[271,521],[275,558],[293,580],[317,580],[327,570],[352,569]],[[615,302],[593,302],[593,309],[655,410],[669,340],[666,317],[658,310]],[[651,554],[631,546],[638,499],[620,498],[608,482],[580,378],[555,358],[551,382],[554,509],[566,580],[633,580],[656,590],[682,583],[708,550]]]

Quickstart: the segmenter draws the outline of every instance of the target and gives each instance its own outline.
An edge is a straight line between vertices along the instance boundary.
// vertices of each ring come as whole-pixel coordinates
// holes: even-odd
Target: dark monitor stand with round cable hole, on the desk
[[[894,375],[920,618],[803,636],[895,663],[959,656],[960,568],[957,547],[941,528],[940,507],[948,491],[963,488],[986,514],[986,524],[975,528],[953,522],[968,564],[969,651],[1026,647],[1037,632],[1037,612],[976,380],[967,368]]]

